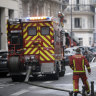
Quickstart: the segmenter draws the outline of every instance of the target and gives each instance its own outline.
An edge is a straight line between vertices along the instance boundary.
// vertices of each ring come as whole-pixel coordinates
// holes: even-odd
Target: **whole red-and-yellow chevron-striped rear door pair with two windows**
[[[53,61],[53,29],[49,23],[24,23],[23,39],[25,55],[39,55],[40,61]]]

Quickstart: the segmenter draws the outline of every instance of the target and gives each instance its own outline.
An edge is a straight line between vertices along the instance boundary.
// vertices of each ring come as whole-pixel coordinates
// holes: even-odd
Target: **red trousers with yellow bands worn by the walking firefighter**
[[[89,88],[89,83],[87,81],[86,73],[73,74],[73,91],[74,92],[79,91],[79,78],[81,78],[81,80],[86,88],[86,92],[90,93],[90,88]]]

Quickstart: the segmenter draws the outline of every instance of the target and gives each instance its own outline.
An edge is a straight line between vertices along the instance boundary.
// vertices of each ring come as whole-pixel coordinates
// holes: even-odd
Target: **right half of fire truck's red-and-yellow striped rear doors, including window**
[[[41,22],[38,25],[39,39],[41,40],[40,61],[54,61],[54,45],[52,22]]]

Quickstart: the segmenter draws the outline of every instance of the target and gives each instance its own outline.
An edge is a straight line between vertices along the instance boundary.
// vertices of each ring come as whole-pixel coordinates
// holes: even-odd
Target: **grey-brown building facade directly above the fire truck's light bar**
[[[65,0],[20,0],[20,17],[27,16],[58,16],[58,12],[64,9]]]

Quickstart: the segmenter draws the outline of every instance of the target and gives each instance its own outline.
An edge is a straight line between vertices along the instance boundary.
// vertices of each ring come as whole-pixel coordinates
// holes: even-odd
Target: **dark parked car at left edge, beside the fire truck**
[[[7,54],[5,50],[0,51],[0,76],[5,76],[8,73]]]

